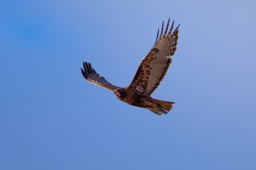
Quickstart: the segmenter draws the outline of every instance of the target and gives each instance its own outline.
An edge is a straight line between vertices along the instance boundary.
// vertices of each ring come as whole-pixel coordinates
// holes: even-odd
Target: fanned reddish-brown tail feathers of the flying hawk
[[[156,115],[167,114],[173,107],[172,104],[174,102],[154,99],[154,107],[149,108],[149,111],[156,113]]]

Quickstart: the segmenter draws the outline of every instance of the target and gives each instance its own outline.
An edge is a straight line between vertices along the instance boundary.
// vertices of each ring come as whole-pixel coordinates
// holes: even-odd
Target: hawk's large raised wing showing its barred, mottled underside
[[[167,23],[166,30],[164,31],[163,21],[160,36],[158,30],[154,46],[139,64],[131,84],[127,86],[128,89],[144,91],[146,94],[151,95],[159,86],[161,80],[164,79],[164,76],[171,64],[170,57],[174,55],[174,52],[176,51],[178,40],[179,25],[174,32],[171,33],[174,28],[174,21],[171,25],[171,29],[168,31],[169,22],[170,18]]]

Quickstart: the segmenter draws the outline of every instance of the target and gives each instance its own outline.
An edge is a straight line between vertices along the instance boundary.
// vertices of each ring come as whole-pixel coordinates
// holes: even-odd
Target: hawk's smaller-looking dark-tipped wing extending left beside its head
[[[89,81],[92,84],[101,86],[110,91],[114,91],[119,88],[119,86],[113,86],[110,84],[104,77],[100,77],[99,74],[92,68],[90,62],[83,62],[83,69],[81,68],[82,76],[86,81]]]

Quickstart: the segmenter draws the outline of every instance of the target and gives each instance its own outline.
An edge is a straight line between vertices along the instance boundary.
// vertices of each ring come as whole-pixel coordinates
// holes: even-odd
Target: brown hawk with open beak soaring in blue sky
[[[82,76],[86,81],[114,92],[114,95],[120,101],[124,101],[129,105],[148,108],[149,111],[157,115],[168,113],[174,102],[157,100],[152,98],[151,94],[159,86],[161,80],[164,79],[171,64],[170,57],[176,51],[179,25],[172,32],[174,21],[170,29],[169,23],[170,18],[164,30],[163,21],[160,36],[158,30],[154,46],[139,64],[137,72],[129,86],[122,88],[110,84],[92,68],[89,62],[83,62],[83,69],[81,69]]]

